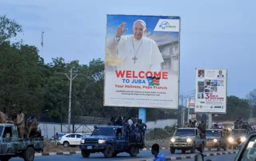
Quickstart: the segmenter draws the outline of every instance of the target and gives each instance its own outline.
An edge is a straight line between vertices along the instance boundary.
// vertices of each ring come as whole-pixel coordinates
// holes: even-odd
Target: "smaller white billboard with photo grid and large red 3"
[[[226,69],[196,69],[195,112],[226,113]]]

